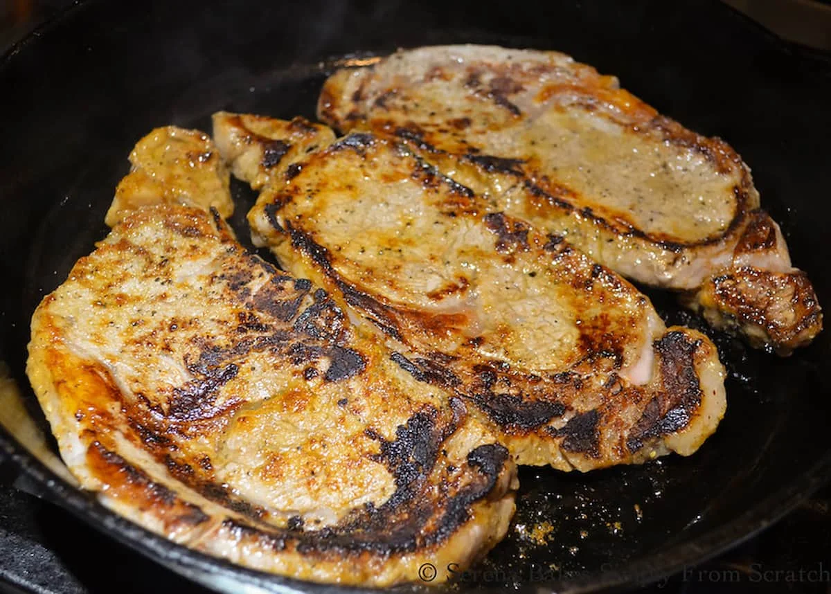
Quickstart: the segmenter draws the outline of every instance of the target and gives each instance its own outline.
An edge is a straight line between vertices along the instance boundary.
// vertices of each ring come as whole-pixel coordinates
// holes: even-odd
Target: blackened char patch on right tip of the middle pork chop
[[[661,359],[663,390],[647,404],[632,428],[627,448],[634,453],[651,439],[675,433],[689,425],[701,405],[701,385],[692,361],[701,341],[687,341],[681,331],[667,332],[655,341]]]

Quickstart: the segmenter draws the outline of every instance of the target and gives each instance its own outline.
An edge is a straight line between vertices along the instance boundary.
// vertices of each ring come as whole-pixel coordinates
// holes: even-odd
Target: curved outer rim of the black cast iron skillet
[[[21,52],[25,52],[40,37],[47,35],[53,28],[60,26],[77,12],[81,12],[81,9],[95,3],[100,3],[100,0],[75,0],[53,13],[46,21],[2,53],[0,70],[7,67],[9,62],[16,59]],[[734,7],[728,4],[724,7],[732,12],[733,17],[743,21],[746,27],[755,28],[757,33],[764,35],[766,41],[777,46],[779,51],[831,65],[831,52],[811,50],[798,43],[786,41],[775,36]],[[50,503],[72,513],[91,528],[108,534],[145,557],[160,562],[172,571],[206,587],[217,588],[216,583],[210,582],[211,577],[225,577],[236,578],[249,587],[257,588],[250,592],[378,592],[365,587],[302,582],[291,577],[243,567],[224,558],[212,557],[207,553],[184,547],[121,517],[100,503],[93,493],[69,484],[52,469],[47,468],[40,459],[37,459],[37,456],[29,452],[2,426],[0,426],[0,451],[7,454],[12,464],[22,469],[28,477],[44,488],[46,492],[44,494]],[[706,562],[721,552],[753,538],[793,511],[819,488],[828,484],[829,479],[831,479],[831,449],[812,467],[800,474],[798,479],[769,493],[730,522],[722,523],[717,528],[702,533],[696,538],[673,545],[666,551],[635,559],[625,564],[625,568],[614,568],[605,572],[586,572],[578,577],[558,582],[540,582],[536,585],[537,591],[541,594],[543,592],[551,592],[551,594],[555,592],[598,592],[657,582],[686,567]]]

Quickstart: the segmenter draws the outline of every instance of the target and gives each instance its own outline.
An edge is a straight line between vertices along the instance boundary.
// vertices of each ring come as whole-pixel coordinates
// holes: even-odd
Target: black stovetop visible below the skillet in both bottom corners
[[[0,461],[0,594],[208,592],[71,517]],[[831,594],[831,486],[765,532],[639,594]]]

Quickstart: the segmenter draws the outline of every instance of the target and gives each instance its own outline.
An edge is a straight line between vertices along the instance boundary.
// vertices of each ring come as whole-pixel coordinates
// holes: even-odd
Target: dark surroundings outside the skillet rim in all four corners
[[[727,2],[789,41],[831,51],[831,0]],[[0,0],[0,48],[70,3]],[[204,591],[43,501],[0,459],[0,592]],[[831,594],[831,488],[732,551],[641,592]]]

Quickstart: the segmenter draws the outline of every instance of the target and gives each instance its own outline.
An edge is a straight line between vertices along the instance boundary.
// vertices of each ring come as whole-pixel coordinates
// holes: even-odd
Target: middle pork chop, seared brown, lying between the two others
[[[307,122],[289,141],[291,125],[214,115],[235,173],[263,184],[248,214],[254,243],[369,319],[401,369],[474,405],[519,464],[691,454],[715,430],[724,369],[706,336],[667,330],[617,274],[488,213],[406,146],[371,134],[327,145],[332,133]],[[258,145],[275,140],[317,149],[264,160]]]

